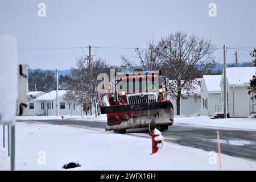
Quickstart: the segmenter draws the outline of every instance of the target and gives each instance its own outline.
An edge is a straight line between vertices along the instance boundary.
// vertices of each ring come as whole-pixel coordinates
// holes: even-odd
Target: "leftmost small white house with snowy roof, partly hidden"
[[[44,94],[41,91],[28,92],[27,115],[36,115],[36,99]]]

